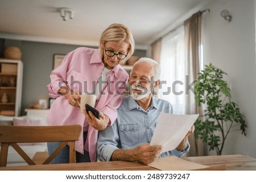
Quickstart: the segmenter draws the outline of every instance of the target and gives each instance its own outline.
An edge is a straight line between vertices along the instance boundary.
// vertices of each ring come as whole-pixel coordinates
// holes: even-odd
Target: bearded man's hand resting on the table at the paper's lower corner
[[[141,146],[134,148],[133,157],[142,164],[152,163],[162,151],[162,146],[150,146],[149,143],[144,143]]]

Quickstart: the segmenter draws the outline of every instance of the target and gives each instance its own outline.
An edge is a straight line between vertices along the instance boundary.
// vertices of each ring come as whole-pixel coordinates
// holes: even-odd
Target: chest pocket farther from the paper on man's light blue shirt
[[[139,125],[119,125],[119,134],[122,144],[133,146],[139,142]]]

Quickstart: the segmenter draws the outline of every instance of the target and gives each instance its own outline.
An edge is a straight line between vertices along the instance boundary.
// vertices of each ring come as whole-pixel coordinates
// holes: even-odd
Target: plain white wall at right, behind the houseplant
[[[204,61],[222,69],[232,85],[232,98],[245,115],[247,138],[234,131],[226,140],[222,155],[256,157],[256,61],[254,0],[215,0],[203,16]],[[227,9],[233,16],[226,22],[220,16]],[[210,155],[216,155],[210,152]]]

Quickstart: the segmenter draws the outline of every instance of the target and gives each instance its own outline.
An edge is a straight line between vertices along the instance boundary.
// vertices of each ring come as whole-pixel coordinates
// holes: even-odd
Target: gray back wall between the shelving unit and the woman
[[[22,50],[23,86],[21,115],[26,114],[24,113],[24,109],[32,104],[38,103],[39,99],[46,99],[48,101],[47,85],[50,82],[49,75],[53,69],[53,55],[67,54],[73,51],[73,49],[81,47],[66,44],[1,39],[0,47],[6,46],[17,46]],[[144,57],[146,56],[146,50],[137,49],[134,55]]]

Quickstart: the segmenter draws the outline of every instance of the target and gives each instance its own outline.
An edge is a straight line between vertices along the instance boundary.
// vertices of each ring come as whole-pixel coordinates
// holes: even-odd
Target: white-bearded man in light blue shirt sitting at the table
[[[193,127],[175,150],[160,154],[162,146],[149,144],[159,114],[172,114],[171,104],[155,98],[152,94],[159,86],[159,76],[159,65],[152,59],[143,57],[134,64],[129,78],[131,96],[123,98],[121,106],[117,109],[117,121],[100,132],[97,144],[98,159],[149,164],[158,156],[181,157],[188,152],[188,135],[193,133]]]

